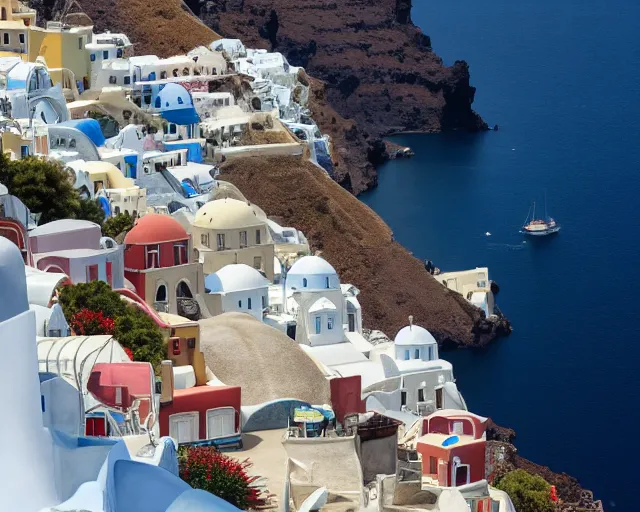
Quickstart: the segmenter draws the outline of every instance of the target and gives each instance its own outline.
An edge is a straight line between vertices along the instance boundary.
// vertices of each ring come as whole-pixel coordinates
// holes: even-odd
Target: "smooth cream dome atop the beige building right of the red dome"
[[[204,204],[196,212],[193,221],[194,226],[216,231],[261,226],[264,223],[264,218],[256,212],[253,205],[231,198],[216,199]]]

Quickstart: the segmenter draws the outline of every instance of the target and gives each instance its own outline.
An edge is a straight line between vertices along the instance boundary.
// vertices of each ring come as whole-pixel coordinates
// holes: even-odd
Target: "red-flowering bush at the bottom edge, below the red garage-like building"
[[[178,460],[180,478],[194,489],[208,491],[243,510],[264,504],[262,491],[253,485],[259,477],[248,474],[249,459],[238,461],[214,447],[192,446],[181,447]]]

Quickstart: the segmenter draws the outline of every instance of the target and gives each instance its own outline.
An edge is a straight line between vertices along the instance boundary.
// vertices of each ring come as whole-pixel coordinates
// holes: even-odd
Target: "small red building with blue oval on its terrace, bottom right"
[[[439,487],[459,487],[484,480],[487,418],[444,409],[423,420],[417,450],[422,474]]]

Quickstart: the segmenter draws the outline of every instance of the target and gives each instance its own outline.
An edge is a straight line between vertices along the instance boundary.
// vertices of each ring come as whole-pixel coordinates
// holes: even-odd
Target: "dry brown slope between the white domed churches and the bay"
[[[445,344],[478,345],[494,336],[479,310],[436,282],[422,262],[393,241],[373,210],[308,160],[238,159],[223,165],[221,179],[267,215],[302,230],[342,282],[360,289],[366,327],[395,336],[414,315]]]

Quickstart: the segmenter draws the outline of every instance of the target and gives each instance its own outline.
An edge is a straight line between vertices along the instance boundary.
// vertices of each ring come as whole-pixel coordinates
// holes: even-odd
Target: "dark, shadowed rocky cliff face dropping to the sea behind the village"
[[[334,135],[335,111],[350,122],[336,146],[355,165],[339,182],[359,193],[377,183],[380,138],[397,131],[486,129],[472,110],[469,67],[447,67],[411,22],[411,0],[187,0],[207,25],[250,47],[282,52],[325,82],[314,113]],[[323,115],[324,113],[324,115]],[[338,124],[339,120],[337,121]],[[335,124],[335,123],[334,123]],[[342,133],[340,133],[342,132]],[[366,151],[363,152],[363,149]],[[344,155],[338,159],[345,158]]]

